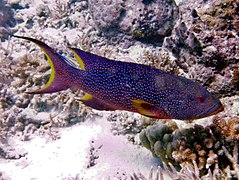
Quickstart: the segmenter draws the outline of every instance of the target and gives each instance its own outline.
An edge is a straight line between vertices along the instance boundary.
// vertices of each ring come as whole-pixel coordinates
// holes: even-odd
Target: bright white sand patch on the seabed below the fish
[[[148,176],[159,161],[145,148],[133,145],[124,136],[113,136],[104,118],[63,128],[57,140],[35,137],[16,141],[16,149],[27,153],[17,160],[0,160],[0,171],[10,179],[114,179],[129,178],[133,172]],[[94,143],[92,143],[94,141]],[[96,165],[87,168],[90,147]],[[7,179],[8,179],[7,178]]]

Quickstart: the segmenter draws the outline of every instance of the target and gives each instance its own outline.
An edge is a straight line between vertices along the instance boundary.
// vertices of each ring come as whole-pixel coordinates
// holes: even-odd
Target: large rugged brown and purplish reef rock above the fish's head
[[[163,43],[189,77],[198,80],[191,68],[201,66],[196,71],[199,81],[218,96],[238,92],[234,77],[239,62],[238,8],[237,0],[182,1],[181,18]]]

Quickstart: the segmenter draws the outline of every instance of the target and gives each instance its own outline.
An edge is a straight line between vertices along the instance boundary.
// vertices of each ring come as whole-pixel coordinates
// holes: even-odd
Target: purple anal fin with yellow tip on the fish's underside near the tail
[[[113,111],[114,108],[110,107],[109,105],[105,104],[104,102],[98,100],[97,98],[93,97],[91,94],[86,94],[80,99],[77,99],[83,102],[85,105],[92,107],[96,110],[100,111]]]

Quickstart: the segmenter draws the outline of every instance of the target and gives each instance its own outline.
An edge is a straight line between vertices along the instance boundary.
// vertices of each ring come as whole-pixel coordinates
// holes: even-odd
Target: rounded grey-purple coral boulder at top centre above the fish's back
[[[150,43],[162,43],[178,19],[174,0],[90,0],[89,8],[95,24],[105,35],[123,32]]]

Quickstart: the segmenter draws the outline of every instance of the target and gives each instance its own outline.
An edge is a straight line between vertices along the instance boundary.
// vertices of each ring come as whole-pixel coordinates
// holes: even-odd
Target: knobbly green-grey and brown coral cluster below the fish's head
[[[236,117],[225,121],[217,116],[206,127],[195,124],[191,128],[179,128],[174,122],[159,121],[143,130],[140,140],[154,156],[176,168],[195,163],[200,176],[220,170],[222,177],[228,175],[229,168],[230,175],[238,178],[234,174],[239,163],[238,124]]]

